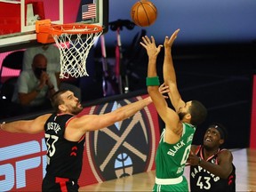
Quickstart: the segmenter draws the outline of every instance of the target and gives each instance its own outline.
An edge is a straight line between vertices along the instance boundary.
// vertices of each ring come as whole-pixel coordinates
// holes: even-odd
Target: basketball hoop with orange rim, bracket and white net
[[[51,24],[51,20],[36,21],[39,43],[56,43],[60,50],[60,78],[89,76],[86,59],[97,37],[102,33],[98,25],[71,23]]]

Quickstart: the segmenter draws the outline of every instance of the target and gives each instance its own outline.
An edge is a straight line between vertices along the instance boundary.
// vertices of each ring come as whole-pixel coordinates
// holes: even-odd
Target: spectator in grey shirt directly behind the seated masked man
[[[47,72],[54,73],[57,79],[59,89],[68,89],[81,100],[81,90],[75,84],[71,84],[68,81],[61,81],[60,79],[60,51],[54,44],[43,44],[42,46],[28,48],[24,52],[22,61],[22,69],[31,69],[31,63],[36,54],[41,53],[47,59]]]

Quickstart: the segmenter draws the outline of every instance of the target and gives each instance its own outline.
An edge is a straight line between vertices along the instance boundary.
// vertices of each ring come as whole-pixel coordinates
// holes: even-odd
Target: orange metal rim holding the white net
[[[93,24],[62,24],[51,25],[49,27],[49,34],[60,36],[61,34],[92,34],[102,31],[102,28]]]

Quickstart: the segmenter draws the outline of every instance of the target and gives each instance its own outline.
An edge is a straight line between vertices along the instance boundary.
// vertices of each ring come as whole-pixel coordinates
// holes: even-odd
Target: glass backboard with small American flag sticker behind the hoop
[[[97,24],[108,31],[108,0],[0,0],[0,52],[39,45],[36,20]]]

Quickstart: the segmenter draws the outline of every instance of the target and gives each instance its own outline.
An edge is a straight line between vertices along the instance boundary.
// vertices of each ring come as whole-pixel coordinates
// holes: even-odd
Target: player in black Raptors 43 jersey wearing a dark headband
[[[236,167],[232,153],[220,146],[227,140],[222,124],[211,124],[204,145],[191,146],[190,191],[236,191]]]

